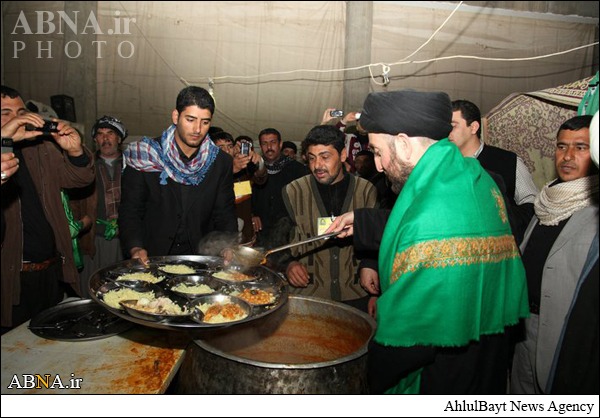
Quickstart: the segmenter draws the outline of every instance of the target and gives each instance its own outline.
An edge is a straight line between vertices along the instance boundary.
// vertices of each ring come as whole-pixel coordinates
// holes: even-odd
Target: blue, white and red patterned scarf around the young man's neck
[[[169,177],[177,183],[197,186],[204,180],[204,176],[215,161],[219,147],[206,135],[198,155],[186,164],[179,157],[175,142],[176,127],[173,124],[164,131],[160,143],[144,137],[141,141],[129,144],[123,152],[123,159],[128,166],[137,171],[160,171],[162,185],[167,184],[167,177]]]

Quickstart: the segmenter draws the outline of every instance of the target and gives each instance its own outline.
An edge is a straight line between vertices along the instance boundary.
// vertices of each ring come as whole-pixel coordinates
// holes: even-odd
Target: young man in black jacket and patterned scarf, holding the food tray
[[[162,136],[125,150],[119,230],[131,258],[197,254],[208,233],[237,234],[232,161],[208,136],[214,110],[208,91],[186,87]]]

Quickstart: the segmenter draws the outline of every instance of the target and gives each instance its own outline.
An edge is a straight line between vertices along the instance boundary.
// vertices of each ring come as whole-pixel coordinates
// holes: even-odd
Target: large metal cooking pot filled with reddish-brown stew
[[[375,321],[348,305],[290,295],[264,319],[206,331],[190,344],[176,391],[196,394],[367,393]]]

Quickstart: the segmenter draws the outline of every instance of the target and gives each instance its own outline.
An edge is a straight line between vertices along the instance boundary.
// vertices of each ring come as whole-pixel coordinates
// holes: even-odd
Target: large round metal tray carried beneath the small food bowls
[[[89,290],[92,299],[94,299],[97,303],[102,305],[104,308],[108,309],[111,313],[124,318],[128,321],[134,322],[136,324],[145,325],[152,328],[162,328],[169,330],[182,330],[182,329],[195,329],[195,328],[223,328],[227,326],[232,326],[236,324],[246,323],[258,318],[262,318],[267,316],[279,308],[285,305],[288,301],[288,287],[284,279],[273,270],[264,267],[258,266],[253,267],[247,270],[244,270],[245,274],[254,275],[256,277],[255,280],[248,282],[229,282],[225,283],[223,292],[227,293],[227,287],[229,285],[235,286],[236,289],[239,289],[243,286],[252,287],[257,284],[268,286],[269,288],[274,290],[275,294],[275,302],[271,305],[266,306],[253,306],[250,315],[246,318],[234,321],[234,322],[224,322],[220,324],[210,324],[210,323],[198,323],[193,321],[191,318],[186,320],[178,320],[178,321],[149,321],[141,318],[136,318],[131,316],[125,310],[115,309],[103,301],[103,291],[104,289],[113,289],[115,283],[118,284],[118,281],[115,281],[116,274],[119,272],[127,272],[130,270],[135,271],[144,271],[151,272],[155,275],[165,276],[167,280],[163,280],[159,283],[156,283],[157,286],[161,287],[164,290],[166,296],[173,296],[177,298],[178,296],[172,293],[167,283],[169,282],[168,278],[172,276],[172,274],[167,274],[159,271],[159,266],[164,264],[187,264],[191,266],[196,266],[197,271],[195,274],[211,274],[212,272],[216,272],[219,270],[223,270],[223,259],[221,257],[213,257],[213,256],[203,256],[203,255],[173,255],[173,256],[162,256],[162,257],[150,257],[148,266],[142,266],[137,260],[125,260],[119,263],[113,264],[111,266],[102,268],[97,270],[92,277],[90,277]]]

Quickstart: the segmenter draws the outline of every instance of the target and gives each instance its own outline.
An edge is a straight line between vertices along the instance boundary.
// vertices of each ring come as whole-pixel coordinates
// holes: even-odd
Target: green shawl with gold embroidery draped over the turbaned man
[[[379,251],[375,341],[466,346],[529,313],[525,270],[501,192],[447,139],[415,166]],[[418,393],[418,370],[392,393]]]

